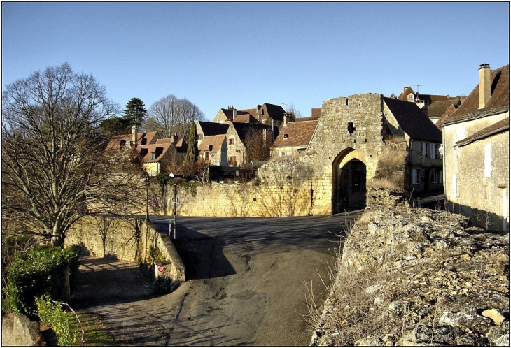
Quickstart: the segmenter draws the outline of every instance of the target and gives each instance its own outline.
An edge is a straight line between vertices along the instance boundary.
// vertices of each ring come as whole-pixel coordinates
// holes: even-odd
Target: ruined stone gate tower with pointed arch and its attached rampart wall
[[[318,126],[302,156],[265,164],[251,184],[179,187],[178,215],[272,217],[342,211],[336,203],[342,200],[342,168],[352,160],[362,162],[367,182],[377,171],[384,145],[383,110],[381,94],[323,101]],[[172,211],[172,197],[166,203]]]

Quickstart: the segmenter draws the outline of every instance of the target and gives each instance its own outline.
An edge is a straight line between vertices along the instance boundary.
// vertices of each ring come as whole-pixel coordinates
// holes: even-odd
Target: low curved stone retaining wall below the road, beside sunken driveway
[[[64,247],[82,245],[99,257],[150,263],[153,256],[165,263],[168,277],[185,281],[185,266],[167,233],[137,218],[89,215],[67,232]],[[151,255],[152,254],[152,255]]]

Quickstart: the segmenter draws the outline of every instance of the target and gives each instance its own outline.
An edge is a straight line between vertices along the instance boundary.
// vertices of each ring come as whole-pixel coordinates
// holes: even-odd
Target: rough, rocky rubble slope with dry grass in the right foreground
[[[509,345],[509,233],[372,205],[347,232],[311,345]]]

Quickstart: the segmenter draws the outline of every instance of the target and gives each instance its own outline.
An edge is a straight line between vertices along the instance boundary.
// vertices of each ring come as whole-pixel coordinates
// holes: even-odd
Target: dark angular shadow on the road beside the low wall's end
[[[186,280],[211,279],[235,275],[236,271],[223,254],[225,242],[178,224],[178,238],[173,240],[186,267]]]

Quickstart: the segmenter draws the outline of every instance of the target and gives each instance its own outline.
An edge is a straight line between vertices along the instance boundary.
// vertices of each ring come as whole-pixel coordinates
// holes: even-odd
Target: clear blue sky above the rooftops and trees
[[[220,108],[358,93],[469,94],[509,64],[507,2],[5,2],[2,89],[64,62],[124,108],[174,94]]]

